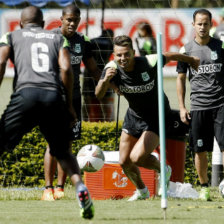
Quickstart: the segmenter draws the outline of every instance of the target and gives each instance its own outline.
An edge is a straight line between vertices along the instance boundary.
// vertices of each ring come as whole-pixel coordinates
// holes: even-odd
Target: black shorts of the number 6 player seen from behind
[[[39,126],[57,158],[67,156],[71,115],[57,91],[24,88],[15,92],[0,120],[0,154],[12,150],[23,135]]]

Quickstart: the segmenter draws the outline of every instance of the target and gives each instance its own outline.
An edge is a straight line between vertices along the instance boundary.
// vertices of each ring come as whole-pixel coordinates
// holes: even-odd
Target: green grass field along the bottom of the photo
[[[78,204],[72,188],[66,188],[66,197],[55,202],[40,201],[42,191],[0,189],[1,224],[219,224],[223,223],[224,199],[212,188],[212,201],[168,199],[166,221],[160,207],[160,198],[127,202],[122,200],[94,200],[95,217],[79,217]]]

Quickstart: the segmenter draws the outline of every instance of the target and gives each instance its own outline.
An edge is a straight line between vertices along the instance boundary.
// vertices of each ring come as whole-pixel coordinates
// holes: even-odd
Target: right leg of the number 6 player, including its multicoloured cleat
[[[40,99],[44,113],[40,114],[39,126],[50,146],[50,154],[55,156],[62,169],[76,187],[80,215],[85,219],[94,216],[94,208],[87,187],[83,184],[76,158],[70,152],[72,129],[71,117],[60,94],[53,91],[44,93]],[[80,108],[81,109],[81,108]]]

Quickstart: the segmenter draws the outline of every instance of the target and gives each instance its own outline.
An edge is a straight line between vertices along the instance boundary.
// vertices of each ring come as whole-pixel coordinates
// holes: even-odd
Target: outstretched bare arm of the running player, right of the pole
[[[170,61],[182,61],[188,63],[194,70],[198,70],[200,64],[200,59],[194,56],[187,56],[178,52],[166,52],[164,53],[166,57],[166,63]]]

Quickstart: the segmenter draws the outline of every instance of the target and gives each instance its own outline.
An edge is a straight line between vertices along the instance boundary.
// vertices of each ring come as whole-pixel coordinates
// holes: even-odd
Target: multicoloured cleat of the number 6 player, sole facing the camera
[[[76,195],[80,207],[80,216],[84,219],[92,219],[94,216],[94,206],[89,191],[84,184],[79,185]]]

